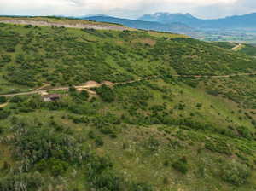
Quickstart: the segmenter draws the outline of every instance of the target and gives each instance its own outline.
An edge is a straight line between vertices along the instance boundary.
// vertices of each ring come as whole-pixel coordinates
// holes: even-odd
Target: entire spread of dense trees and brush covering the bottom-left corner
[[[63,176],[70,168],[83,166],[90,187],[96,190],[153,190],[148,184],[126,181],[108,157],[98,157],[90,149],[84,150],[83,139],[75,136],[67,126],[53,120],[49,124],[35,120],[31,125],[29,121],[17,118],[12,119],[12,123],[14,137],[3,142],[12,148],[13,159],[19,162],[16,165],[5,162],[6,176],[0,180],[3,191],[47,188],[51,181],[56,182],[56,178]],[[100,136],[90,137],[97,140],[98,146],[103,146],[102,141],[98,141]],[[50,172],[52,177],[44,177],[45,172]]]

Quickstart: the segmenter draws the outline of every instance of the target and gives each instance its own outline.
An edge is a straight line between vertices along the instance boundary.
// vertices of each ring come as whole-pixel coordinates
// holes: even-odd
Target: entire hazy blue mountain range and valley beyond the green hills
[[[191,14],[170,13],[145,14],[137,20],[121,19],[108,15],[92,15],[78,18],[82,20],[117,23],[143,30],[186,34],[192,38],[200,39],[205,39],[206,37],[210,37],[210,39],[222,39],[219,37],[230,34],[225,32],[234,31],[236,33],[238,32],[238,36],[241,37],[242,33],[255,32],[256,30],[256,13],[215,20],[203,20]],[[232,35],[234,36],[233,33]]]

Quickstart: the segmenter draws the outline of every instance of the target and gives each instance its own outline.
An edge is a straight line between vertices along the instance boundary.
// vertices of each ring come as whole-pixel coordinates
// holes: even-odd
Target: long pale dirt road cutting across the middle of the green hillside
[[[185,74],[176,74],[172,75],[172,77],[182,77],[182,78],[231,78],[231,77],[236,77],[236,76],[251,76],[251,75],[256,75],[255,73],[237,73],[237,74],[230,74],[230,75],[223,75],[223,76],[206,76],[206,75],[185,75]],[[149,76],[137,80],[131,80],[127,82],[121,82],[121,83],[102,83],[102,84],[84,84],[80,86],[74,86],[74,88],[78,90],[83,90],[83,89],[90,89],[90,88],[98,88],[101,87],[102,85],[107,85],[107,86],[114,86],[114,85],[121,85],[121,84],[132,84],[136,82],[140,82],[143,80],[149,80],[152,78],[159,78],[160,76]],[[26,96],[26,95],[33,95],[33,94],[40,94],[45,91],[56,91],[56,90],[69,90],[69,87],[59,87],[59,88],[52,88],[52,89],[46,89],[46,90],[32,90],[28,92],[20,92],[20,93],[14,93],[14,94],[5,94],[5,95],[0,95],[0,96],[6,96],[6,97],[11,97],[11,96]]]

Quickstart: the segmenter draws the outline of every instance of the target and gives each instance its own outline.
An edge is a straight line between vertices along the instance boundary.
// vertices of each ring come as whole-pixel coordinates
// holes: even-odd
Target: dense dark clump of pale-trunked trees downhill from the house
[[[56,133],[52,128],[61,132]],[[14,130],[16,134],[10,144],[14,147],[14,157],[21,160],[20,168],[24,172],[31,170],[39,162],[41,167],[44,164],[53,164],[52,170],[56,174],[60,169],[67,169],[65,161],[81,165],[86,158],[79,142],[69,135],[70,130],[66,127],[60,128],[59,124],[51,123],[49,128],[43,124],[32,127],[18,121],[15,122]],[[58,163],[60,166],[56,166]],[[40,169],[45,170],[38,167]]]

